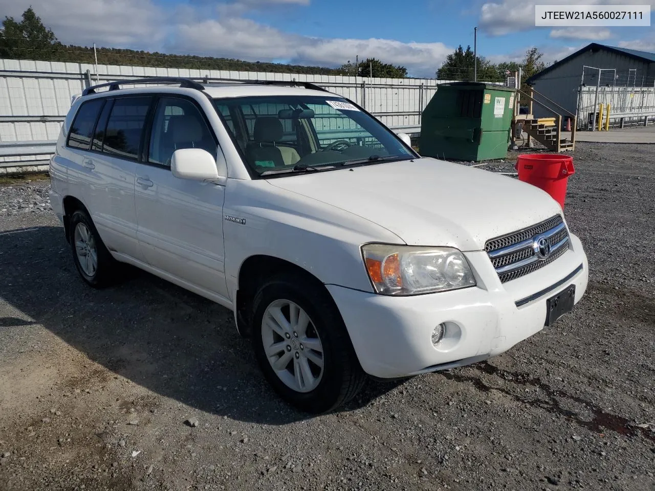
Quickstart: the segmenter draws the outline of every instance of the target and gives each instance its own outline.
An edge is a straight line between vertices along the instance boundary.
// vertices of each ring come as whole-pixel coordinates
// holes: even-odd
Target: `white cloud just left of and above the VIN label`
[[[631,1],[631,0],[629,0]],[[534,27],[534,5],[616,5],[617,0],[502,0],[482,5],[479,27],[493,36],[529,31]],[[639,4],[655,6],[655,0],[639,0]],[[582,39],[582,38],[579,38]],[[585,38],[589,39],[589,38]]]

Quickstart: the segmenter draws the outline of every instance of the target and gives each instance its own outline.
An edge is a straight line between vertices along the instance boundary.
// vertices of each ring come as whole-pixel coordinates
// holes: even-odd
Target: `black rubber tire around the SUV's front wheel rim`
[[[262,321],[276,300],[290,300],[307,312],[323,346],[324,371],[309,392],[288,387],[271,367],[264,351]],[[252,344],[265,378],[274,390],[297,409],[320,414],[352,399],[364,386],[366,374],[352,348],[341,314],[323,285],[302,274],[282,274],[265,281],[252,303]]]

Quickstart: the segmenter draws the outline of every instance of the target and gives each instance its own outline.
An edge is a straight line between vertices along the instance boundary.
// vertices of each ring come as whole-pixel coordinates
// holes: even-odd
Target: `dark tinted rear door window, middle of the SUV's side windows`
[[[137,158],[139,145],[151,98],[131,97],[117,99],[107,121],[103,153],[123,158]]]

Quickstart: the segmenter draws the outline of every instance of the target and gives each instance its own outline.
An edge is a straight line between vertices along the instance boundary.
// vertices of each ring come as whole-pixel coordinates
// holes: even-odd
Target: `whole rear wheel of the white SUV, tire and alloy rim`
[[[70,243],[77,272],[88,285],[101,288],[111,284],[115,260],[103,244],[88,214],[78,209],[70,219]]]

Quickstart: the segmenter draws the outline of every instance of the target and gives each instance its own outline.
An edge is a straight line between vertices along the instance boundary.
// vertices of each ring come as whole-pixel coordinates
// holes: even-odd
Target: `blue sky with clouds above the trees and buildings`
[[[584,0],[596,5],[655,0]],[[70,44],[338,66],[374,56],[434,77],[457,45],[493,62],[527,48],[561,60],[590,42],[655,51],[652,27],[534,27],[536,0],[0,0],[20,16],[29,5]],[[571,5],[567,0],[538,3]],[[102,62],[102,56],[100,59]]]

